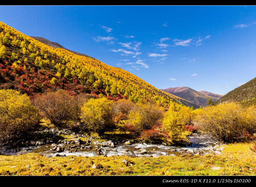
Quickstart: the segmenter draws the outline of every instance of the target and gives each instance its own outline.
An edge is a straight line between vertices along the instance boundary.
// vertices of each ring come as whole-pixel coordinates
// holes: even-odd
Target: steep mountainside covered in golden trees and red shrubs
[[[56,42],[31,38],[3,22],[0,22],[0,89],[16,89],[31,98],[64,89],[73,95],[129,98],[134,102],[146,101],[162,106],[176,102],[198,108],[128,71],[67,50]]]

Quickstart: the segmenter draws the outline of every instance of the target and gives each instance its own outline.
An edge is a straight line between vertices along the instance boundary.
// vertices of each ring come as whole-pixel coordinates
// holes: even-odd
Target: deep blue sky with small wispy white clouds
[[[0,6],[0,21],[159,89],[224,95],[256,77],[256,6]]]

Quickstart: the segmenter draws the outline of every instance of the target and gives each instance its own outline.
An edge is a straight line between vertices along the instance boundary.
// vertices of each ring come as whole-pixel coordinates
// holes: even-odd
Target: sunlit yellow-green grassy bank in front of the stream
[[[46,158],[39,153],[18,156],[1,155],[0,175],[255,176],[256,154],[251,147],[251,143],[228,144],[221,155],[181,155],[157,158],[129,158],[127,156]]]

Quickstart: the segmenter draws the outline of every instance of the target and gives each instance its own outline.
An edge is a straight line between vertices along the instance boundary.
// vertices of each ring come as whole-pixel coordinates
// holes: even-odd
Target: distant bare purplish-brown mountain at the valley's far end
[[[213,94],[206,91],[196,91],[189,87],[175,87],[175,88],[167,88],[167,89],[160,89],[164,92],[176,95],[181,97],[185,100],[188,100],[192,103],[195,103],[198,106],[205,107],[206,103],[209,98],[215,102],[220,99],[221,95]],[[204,94],[205,93],[205,94]]]

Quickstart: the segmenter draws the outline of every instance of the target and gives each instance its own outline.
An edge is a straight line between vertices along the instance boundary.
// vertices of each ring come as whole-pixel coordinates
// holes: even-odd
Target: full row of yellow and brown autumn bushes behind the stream
[[[108,100],[101,95],[70,95],[65,90],[48,92],[32,101],[27,94],[0,90],[0,142],[24,137],[41,118],[57,128],[94,131],[103,135],[119,129],[138,136],[157,138],[161,127],[166,138],[174,141],[185,130],[210,133],[222,142],[255,138],[256,108],[243,108],[239,103],[221,103],[193,109],[172,102],[168,110],[149,102],[134,103],[127,99]]]

